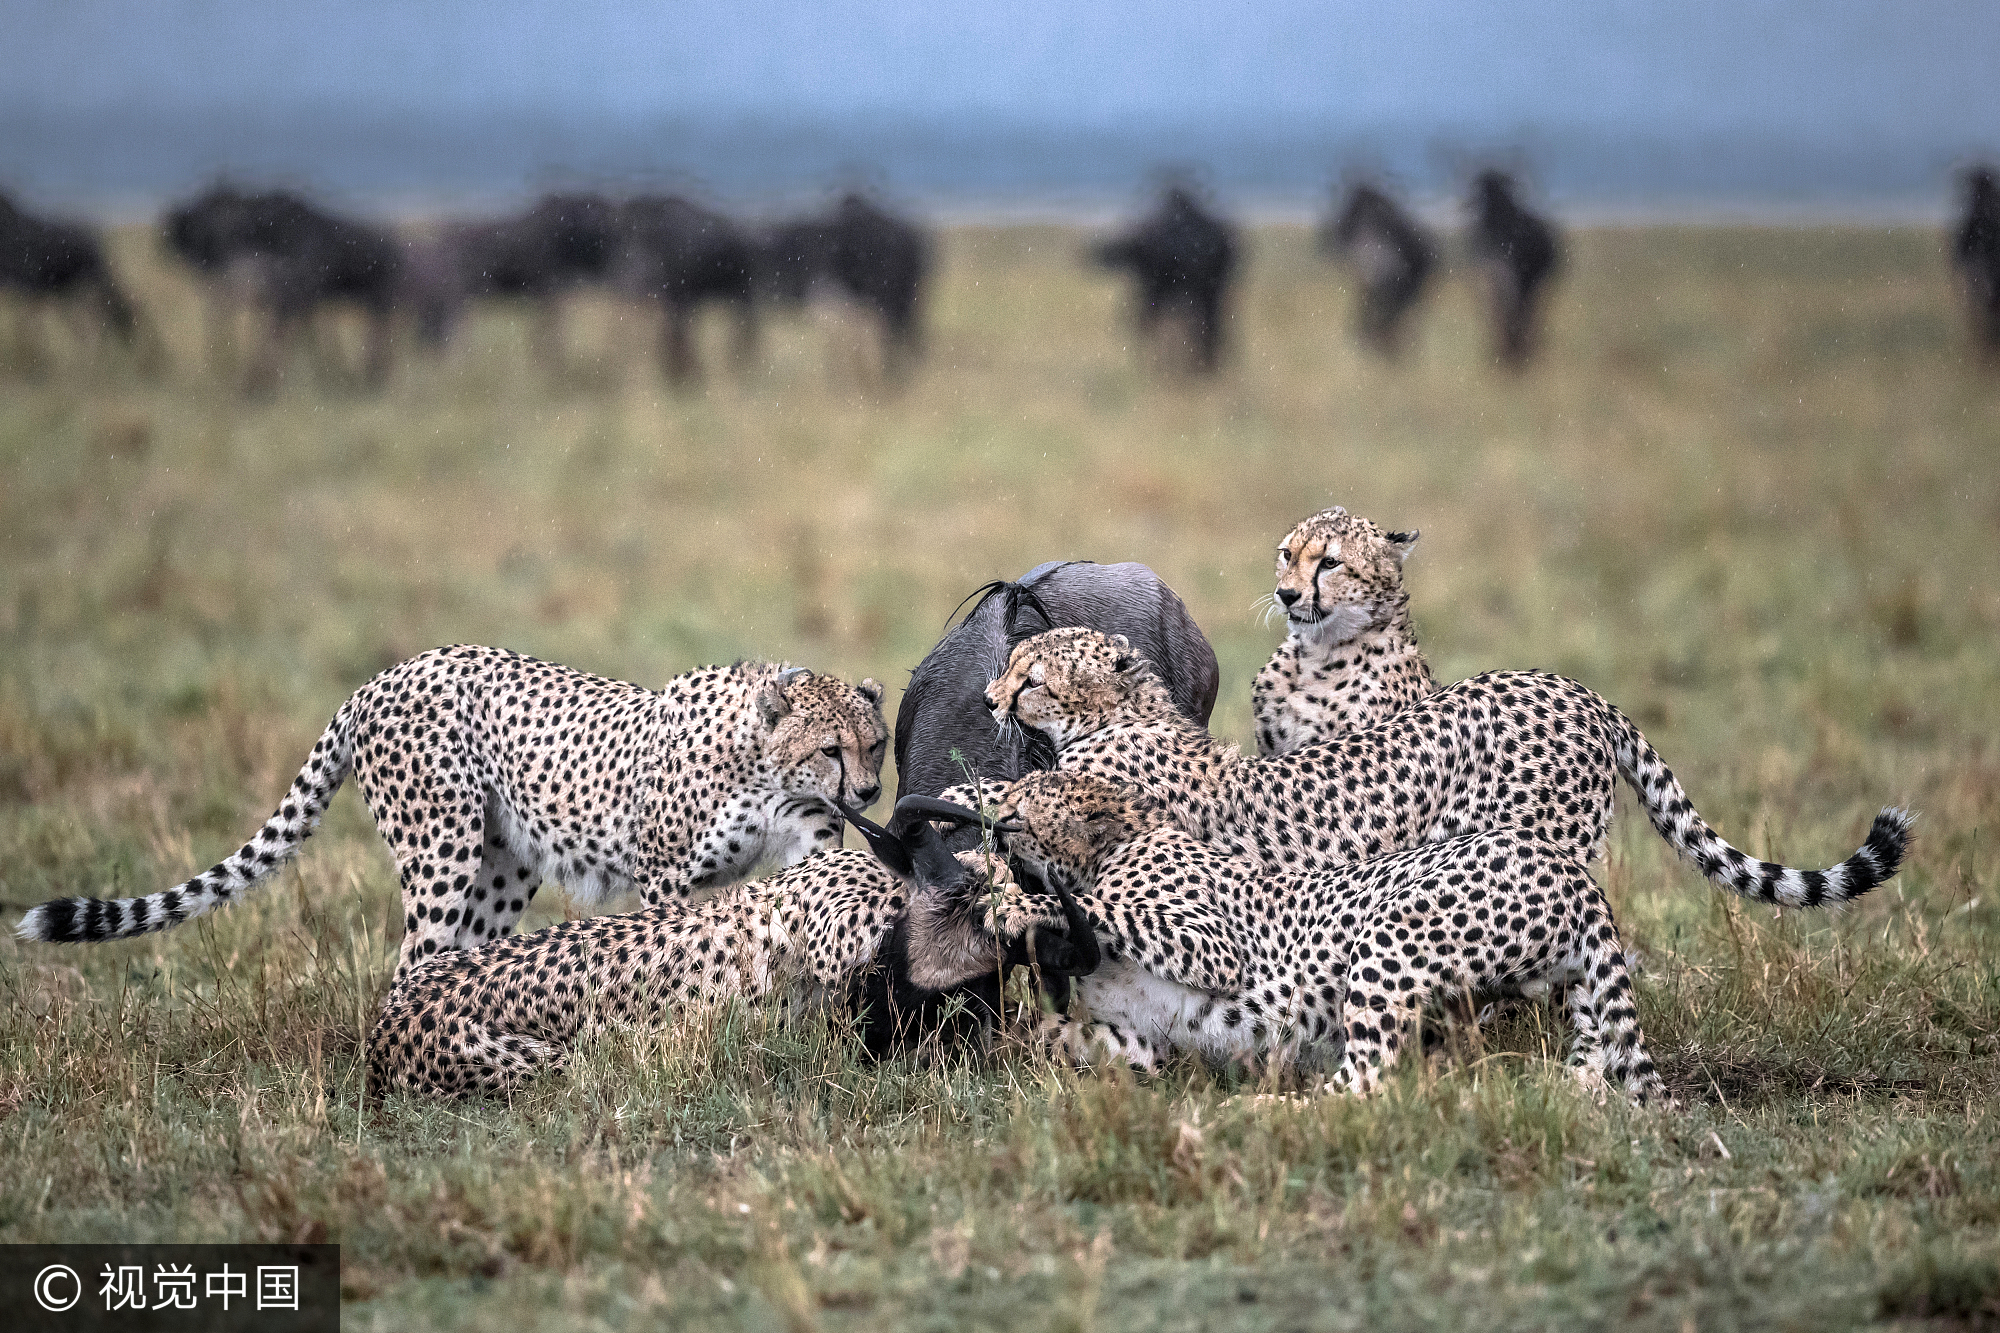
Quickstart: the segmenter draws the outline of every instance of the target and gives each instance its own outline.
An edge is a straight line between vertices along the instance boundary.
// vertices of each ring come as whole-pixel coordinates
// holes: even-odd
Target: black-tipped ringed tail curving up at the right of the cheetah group
[[[1640,729],[1618,709],[1612,709],[1612,745],[1618,751],[1618,773],[1638,793],[1646,817],[1668,845],[1692,861],[1712,883],[1746,899],[1782,907],[1838,907],[1884,883],[1902,865],[1910,847],[1914,815],[1884,809],[1868,829],[1860,851],[1826,871],[1798,871],[1776,861],[1730,847],[1708,827],[1688,801],[1672,769],[1652,749]]]

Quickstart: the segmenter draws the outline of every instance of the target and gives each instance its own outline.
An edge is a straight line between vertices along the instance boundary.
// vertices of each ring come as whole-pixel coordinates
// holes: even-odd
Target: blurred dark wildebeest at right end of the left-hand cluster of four
[[[862,194],[824,214],[780,222],[762,244],[762,288],[800,302],[830,286],[882,322],[882,372],[904,376],[922,352],[922,296],[930,236]]]

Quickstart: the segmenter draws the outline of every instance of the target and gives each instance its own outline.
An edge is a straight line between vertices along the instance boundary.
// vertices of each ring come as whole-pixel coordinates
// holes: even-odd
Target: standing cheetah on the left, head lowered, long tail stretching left
[[[400,983],[440,949],[506,935],[544,879],[586,905],[666,903],[840,841],[832,801],[880,795],[882,687],[738,662],[666,689],[502,648],[432,648],[354,693],[278,813],[184,885],[56,899],[22,939],[164,931],[268,881],[354,773],[402,875]]]

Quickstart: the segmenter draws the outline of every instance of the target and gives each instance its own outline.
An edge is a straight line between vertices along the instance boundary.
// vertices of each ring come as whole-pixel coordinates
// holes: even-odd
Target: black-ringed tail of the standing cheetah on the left
[[[354,703],[340,705],[340,713],[320,733],[318,745],[306,767],[292,779],[278,811],[264,821],[256,837],[202,871],[184,885],[150,893],[140,899],[54,899],[40,907],[30,907],[20,919],[16,933],[22,939],[46,941],[54,945],[82,945],[104,939],[130,939],[152,931],[166,931],[190,917],[222,907],[246,889],[270,879],[286,861],[298,855],[300,845],[312,837],[312,829],[326,815],[328,803],[354,767]]]

